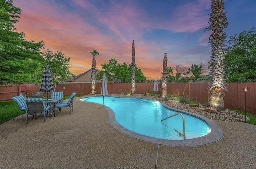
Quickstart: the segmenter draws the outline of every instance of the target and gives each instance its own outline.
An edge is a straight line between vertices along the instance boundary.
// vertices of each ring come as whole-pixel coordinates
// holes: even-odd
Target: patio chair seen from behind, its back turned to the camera
[[[26,124],[28,124],[28,115],[35,115],[36,114],[43,114],[44,115],[44,122],[46,118],[46,112],[50,110],[51,105],[46,106],[43,98],[27,98],[25,100],[28,110],[26,110]]]

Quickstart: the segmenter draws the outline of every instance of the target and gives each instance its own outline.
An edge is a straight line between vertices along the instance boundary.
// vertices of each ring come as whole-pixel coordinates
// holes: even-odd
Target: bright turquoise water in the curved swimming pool
[[[80,100],[102,105],[103,97],[88,97]],[[165,126],[161,120],[177,112],[165,108],[156,100],[104,96],[104,106],[112,109],[116,122],[132,132],[153,138],[183,140],[183,137],[178,136],[178,133],[173,130],[183,132],[182,117],[178,115],[164,120],[163,123],[171,128]],[[183,115],[186,124],[186,140],[202,137],[211,132],[210,126],[203,120],[188,114]]]

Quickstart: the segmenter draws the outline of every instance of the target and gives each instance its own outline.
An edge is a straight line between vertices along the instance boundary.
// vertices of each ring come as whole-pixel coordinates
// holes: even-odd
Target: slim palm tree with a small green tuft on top
[[[95,94],[95,84],[96,84],[96,75],[97,75],[97,68],[96,68],[96,59],[95,56],[100,55],[98,51],[92,49],[92,68],[91,68],[91,94]]]

